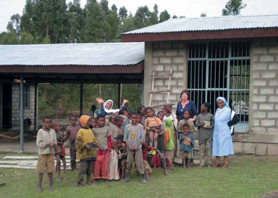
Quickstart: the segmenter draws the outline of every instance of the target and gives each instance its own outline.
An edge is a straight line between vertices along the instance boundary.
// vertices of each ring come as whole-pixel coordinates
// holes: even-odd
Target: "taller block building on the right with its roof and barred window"
[[[216,98],[225,97],[240,117],[233,136],[235,153],[277,155],[277,19],[278,15],[173,19],[124,33],[123,41],[145,41],[145,105],[150,101],[152,71],[165,74],[172,68],[169,100],[177,104],[180,92],[189,90],[199,112],[202,102],[210,102],[215,113]],[[168,79],[155,80],[153,90],[167,85]],[[153,94],[152,106],[166,100],[165,93]]]

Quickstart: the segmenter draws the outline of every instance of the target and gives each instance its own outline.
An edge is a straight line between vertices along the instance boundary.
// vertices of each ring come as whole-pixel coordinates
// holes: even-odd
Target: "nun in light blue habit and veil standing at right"
[[[231,109],[224,97],[218,97],[218,109],[214,115],[214,129],[212,135],[212,156],[216,156],[213,168],[220,167],[220,156],[224,156],[222,168],[227,168],[228,155],[233,155],[233,143],[230,133]],[[229,122],[229,123],[228,123]]]

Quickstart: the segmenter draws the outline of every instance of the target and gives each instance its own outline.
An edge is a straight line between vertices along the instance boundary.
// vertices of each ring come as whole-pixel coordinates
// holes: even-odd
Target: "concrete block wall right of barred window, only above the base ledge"
[[[278,134],[278,39],[251,44],[250,132]]]

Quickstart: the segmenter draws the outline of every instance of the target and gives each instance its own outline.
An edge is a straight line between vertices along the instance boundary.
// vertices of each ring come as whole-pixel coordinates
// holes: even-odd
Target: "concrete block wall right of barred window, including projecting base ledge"
[[[249,133],[235,134],[235,153],[278,155],[278,38],[251,42]]]

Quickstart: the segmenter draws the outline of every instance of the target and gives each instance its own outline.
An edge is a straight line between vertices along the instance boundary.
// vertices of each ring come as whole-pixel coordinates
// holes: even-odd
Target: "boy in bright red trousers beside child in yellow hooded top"
[[[98,126],[93,128],[93,133],[98,142],[100,149],[97,150],[97,160],[94,162],[94,179],[106,179],[108,183],[109,179],[109,152],[111,148],[108,148],[108,141],[111,141],[112,132],[109,127],[104,126],[104,115],[97,115]],[[109,151],[110,149],[110,151]]]

